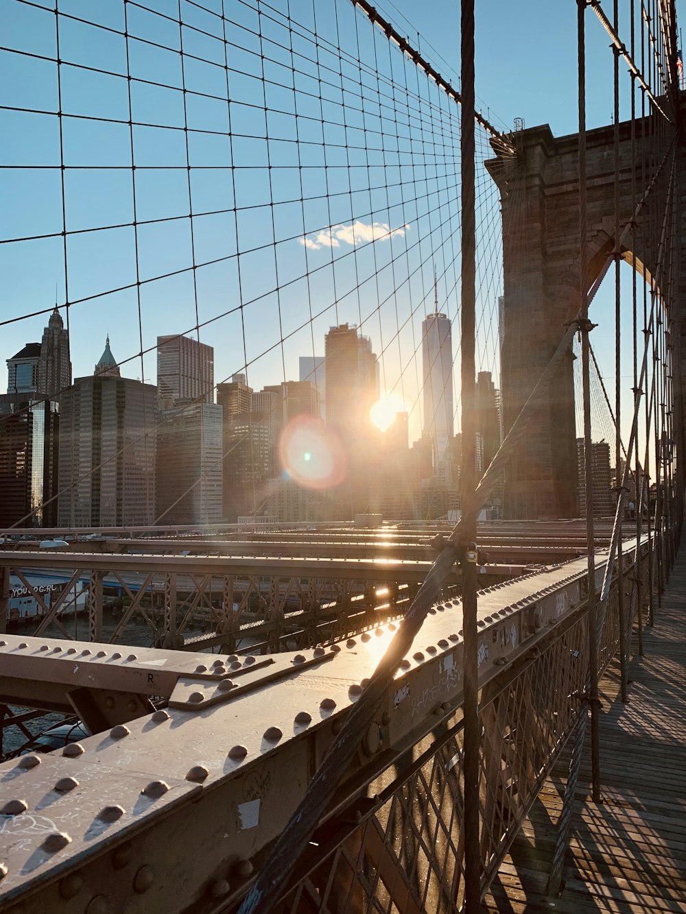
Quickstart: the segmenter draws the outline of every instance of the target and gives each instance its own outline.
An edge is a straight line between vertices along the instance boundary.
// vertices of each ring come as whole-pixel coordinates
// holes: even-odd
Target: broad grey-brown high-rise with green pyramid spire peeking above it
[[[119,377],[109,338],[63,395],[59,526],[142,526],[155,515],[156,388]]]

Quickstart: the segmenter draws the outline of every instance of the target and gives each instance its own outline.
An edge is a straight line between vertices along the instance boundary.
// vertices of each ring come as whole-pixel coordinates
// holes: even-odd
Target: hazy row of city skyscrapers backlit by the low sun
[[[443,320],[449,334],[449,322]],[[26,435],[33,434],[34,462],[43,452],[47,461],[59,453],[59,461],[49,473],[45,463],[42,473],[38,466],[31,471],[43,487],[37,485],[29,501],[17,503],[7,524],[29,508],[36,523],[45,515],[62,526],[126,526],[212,524],[252,515],[346,520],[372,509],[412,519],[459,504],[459,435],[453,438],[452,429],[445,429],[441,460],[435,442],[426,452],[425,442],[432,440],[426,430],[410,448],[406,411],[397,409],[391,420],[375,416],[379,361],[370,338],[359,335],[356,326],[329,327],[325,337],[319,362],[330,402],[325,426],[319,393],[307,380],[253,390],[245,375],[236,374],[217,385],[214,404],[214,388],[207,389],[213,348],[173,336],[158,337],[162,370],[153,386],[122,377],[108,333],[91,374],[53,390],[58,409],[49,397],[41,401],[35,388],[38,364],[49,348],[48,330],[56,331],[59,324],[55,312],[43,345],[25,347],[27,358],[20,353],[8,360],[8,383],[16,387],[17,379],[23,380],[28,388],[3,395],[0,421],[19,433],[8,441],[15,441],[12,447],[20,454]],[[67,357],[69,334],[60,333],[61,354]],[[424,374],[434,356],[427,356],[423,346]],[[492,383],[490,388],[495,407]],[[193,392],[195,397],[188,396]],[[47,427],[41,437],[37,409],[54,414],[49,438]],[[16,415],[7,415],[15,410]],[[405,492],[400,500],[399,492]],[[40,510],[43,498],[52,505],[47,513]]]

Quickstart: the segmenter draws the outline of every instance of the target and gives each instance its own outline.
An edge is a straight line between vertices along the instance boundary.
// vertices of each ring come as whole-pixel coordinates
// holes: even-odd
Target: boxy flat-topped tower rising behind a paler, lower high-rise
[[[212,346],[190,336],[158,336],[157,393],[165,407],[189,399],[214,403]]]

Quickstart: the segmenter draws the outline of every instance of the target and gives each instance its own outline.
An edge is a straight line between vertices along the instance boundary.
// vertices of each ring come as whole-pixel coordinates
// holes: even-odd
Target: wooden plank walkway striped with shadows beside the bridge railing
[[[637,650],[636,635],[632,648]],[[601,683],[602,800],[591,801],[588,740],[560,898],[545,896],[569,757],[536,801],[484,900],[483,911],[686,912],[686,547],[644,631],[645,656]],[[590,726],[587,728],[590,734]]]

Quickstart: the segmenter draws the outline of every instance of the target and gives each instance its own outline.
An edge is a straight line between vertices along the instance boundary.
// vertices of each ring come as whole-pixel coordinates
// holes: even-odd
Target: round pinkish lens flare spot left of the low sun
[[[285,473],[308,489],[340,485],[348,462],[336,432],[314,416],[296,416],[279,439],[279,457]]]

